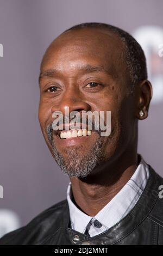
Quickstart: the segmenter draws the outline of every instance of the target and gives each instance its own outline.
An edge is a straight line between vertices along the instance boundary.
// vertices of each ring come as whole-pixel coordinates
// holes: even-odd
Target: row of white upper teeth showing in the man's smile
[[[74,138],[74,137],[81,137],[81,136],[90,136],[92,131],[86,130],[86,129],[80,129],[80,130],[63,130],[59,132],[60,139],[68,139],[68,138]]]

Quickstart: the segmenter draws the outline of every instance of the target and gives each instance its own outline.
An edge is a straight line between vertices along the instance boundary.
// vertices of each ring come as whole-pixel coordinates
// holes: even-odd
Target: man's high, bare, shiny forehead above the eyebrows
[[[122,53],[122,41],[114,33],[92,28],[68,31],[47,48],[41,71],[55,68],[75,72],[80,70],[81,65],[100,65],[117,73],[124,65]]]

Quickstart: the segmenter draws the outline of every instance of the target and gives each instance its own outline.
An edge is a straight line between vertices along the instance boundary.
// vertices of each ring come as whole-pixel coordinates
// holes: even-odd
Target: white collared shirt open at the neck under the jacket
[[[111,228],[133,209],[145,189],[148,178],[148,165],[141,156],[139,166],[137,166],[130,180],[96,216],[86,215],[74,205],[71,199],[72,190],[70,182],[67,188],[67,201],[70,210],[71,228],[83,234],[87,229],[91,237]]]

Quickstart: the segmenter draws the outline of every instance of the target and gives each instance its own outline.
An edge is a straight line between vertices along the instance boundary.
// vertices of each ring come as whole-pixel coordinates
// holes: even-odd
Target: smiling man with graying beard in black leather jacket
[[[162,245],[162,178],[137,154],[137,123],[148,117],[152,98],[141,46],[114,26],[74,26],[48,47],[39,82],[41,130],[70,176],[67,200],[0,244]],[[53,113],[65,119],[67,108],[81,117],[84,111],[110,111],[111,133],[101,136],[95,121],[91,131],[54,130]]]

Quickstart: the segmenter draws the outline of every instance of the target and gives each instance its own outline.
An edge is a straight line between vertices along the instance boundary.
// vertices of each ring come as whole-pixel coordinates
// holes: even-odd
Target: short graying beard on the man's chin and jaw
[[[52,145],[52,155],[55,161],[60,166],[62,173],[64,173],[65,175],[68,175],[69,177],[77,176],[80,178],[84,178],[89,175],[96,166],[98,166],[100,161],[103,160],[103,137],[99,136],[99,139],[95,143],[92,150],[89,152],[89,155],[84,156],[83,158],[81,157],[81,152],[82,150],[84,150],[83,146],[78,146],[75,149],[65,149],[64,151],[65,153],[67,153],[67,158],[65,160],[55,147],[52,136],[51,124],[47,126],[46,131],[49,142]]]

